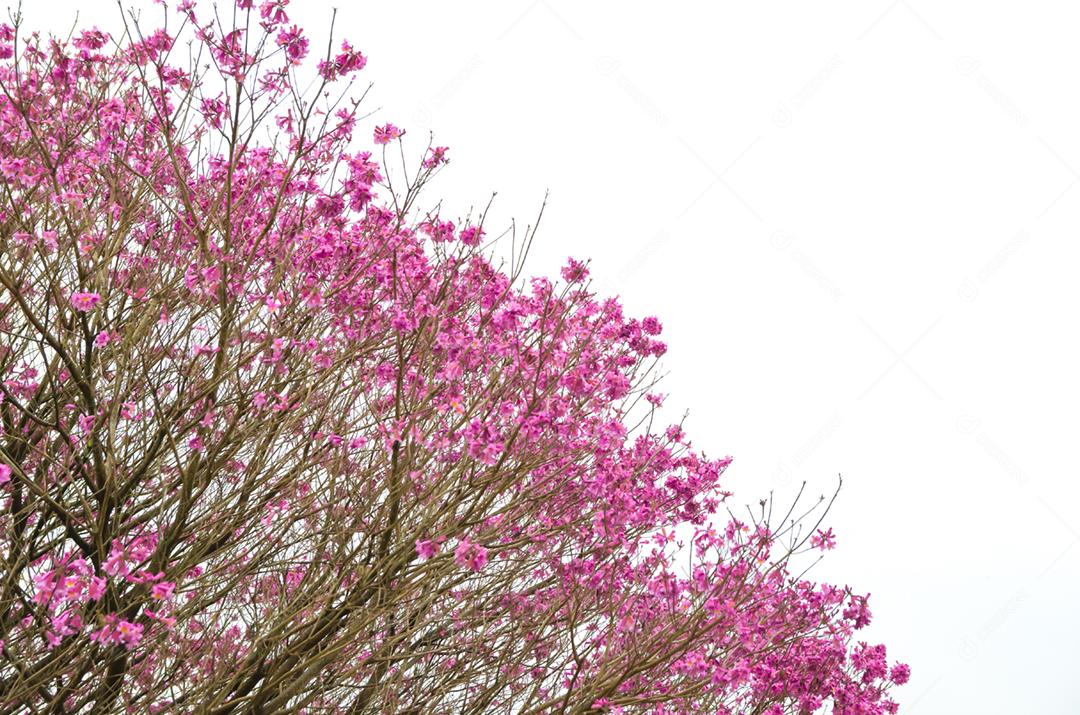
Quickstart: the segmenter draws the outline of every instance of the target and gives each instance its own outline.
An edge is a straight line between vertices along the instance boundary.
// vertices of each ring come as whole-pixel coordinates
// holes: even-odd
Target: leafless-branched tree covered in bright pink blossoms
[[[895,712],[825,504],[727,511],[657,319],[420,208],[284,5],[0,26],[0,712]]]

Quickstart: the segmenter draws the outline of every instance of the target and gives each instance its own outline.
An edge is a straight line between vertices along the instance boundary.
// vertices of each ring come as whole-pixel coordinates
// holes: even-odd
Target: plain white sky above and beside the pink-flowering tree
[[[29,25],[119,12],[44,4]],[[315,52],[330,6],[291,8]],[[661,318],[667,412],[734,456],[737,503],[843,474],[815,575],[873,594],[868,637],[914,671],[902,713],[1064,715],[1078,21],[1066,2],[503,0],[349,3],[337,28],[369,56],[368,124],[451,147],[432,201],[497,190],[495,227],[550,189],[535,272],[592,258],[599,289]]]

